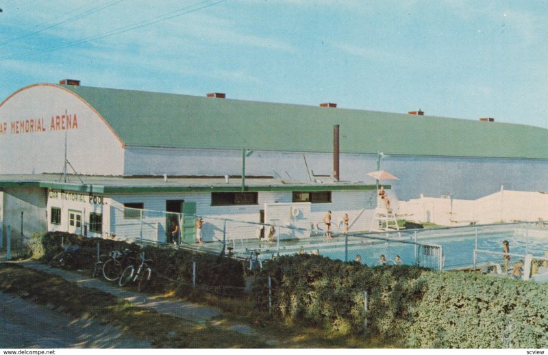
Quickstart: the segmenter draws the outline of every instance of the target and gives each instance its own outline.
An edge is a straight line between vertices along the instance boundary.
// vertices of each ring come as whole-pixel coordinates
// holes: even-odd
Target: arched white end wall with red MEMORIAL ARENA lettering
[[[71,129],[56,125],[65,112]],[[78,174],[123,174],[122,143],[94,109],[60,86],[16,92],[0,106],[0,125],[0,174],[62,172],[65,135],[67,159]]]

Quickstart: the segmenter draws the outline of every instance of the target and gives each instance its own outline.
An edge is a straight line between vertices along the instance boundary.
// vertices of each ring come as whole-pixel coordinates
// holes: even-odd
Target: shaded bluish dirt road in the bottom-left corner
[[[40,306],[0,293],[0,347],[4,348],[127,348],[151,347],[130,339],[117,328],[91,319],[73,319]]]

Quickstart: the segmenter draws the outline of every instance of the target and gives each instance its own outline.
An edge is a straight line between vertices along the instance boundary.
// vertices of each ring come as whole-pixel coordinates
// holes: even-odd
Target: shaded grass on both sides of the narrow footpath
[[[97,289],[11,263],[0,263],[0,291],[13,293],[38,304],[47,304],[72,317],[91,317],[101,324],[112,324],[126,334],[150,341],[160,348],[348,348],[389,347],[373,338],[349,337],[325,332],[306,324],[286,324],[257,313],[247,299],[221,298],[208,293],[184,293],[186,300],[221,308],[223,315],[203,324],[140,308]],[[188,290],[187,290],[188,291]],[[162,297],[181,299],[179,291],[166,291]],[[249,326],[250,334],[231,330]]]

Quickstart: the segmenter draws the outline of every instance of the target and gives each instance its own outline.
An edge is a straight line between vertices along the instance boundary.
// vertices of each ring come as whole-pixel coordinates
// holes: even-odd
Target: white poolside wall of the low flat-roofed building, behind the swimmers
[[[242,206],[212,206],[210,193],[123,194],[110,197],[112,198],[110,229],[116,232],[117,237],[137,239],[143,231],[144,239],[161,242],[166,240],[166,216],[158,211],[165,211],[166,200],[184,200],[197,204],[196,214],[203,216],[204,219],[202,228],[204,241],[221,241],[224,231],[226,231],[227,239],[256,238],[257,225],[245,222],[260,223],[261,209],[265,210],[266,223],[275,220],[276,224],[280,225],[282,222],[285,224],[286,221],[289,221],[295,222],[293,224],[299,228],[309,228],[310,223],[317,223],[320,228],[325,229],[322,221],[328,210],[332,211],[333,224],[336,224],[345,213],[348,213],[351,231],[369,231],[376,204],[375,191],[335,191],[332,192],[332,203],[310,204],[310,207],[306,208],[306,214],[303,214],[305,218],[300,218],[297,223],[289,218],[292,192],[259,192],[258,205]],[[397,200],[397,198],[395,199]],[[141,229],[139,220],[123,219],[123,204],[129,202],[144,203],[143,229]],[[280,218],[278,213],[280,209],[284,209],[286,218]],[[224,229],[224,219],[230,220],[227,221],[226,230]],[[265,231],[265,233],[267,232]]]

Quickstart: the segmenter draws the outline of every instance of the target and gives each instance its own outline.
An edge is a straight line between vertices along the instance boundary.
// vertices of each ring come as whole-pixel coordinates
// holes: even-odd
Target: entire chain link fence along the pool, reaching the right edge
[[[232,253],[238,259],[256,253],[262,260],[309,253],[367,265],[420,265],[444,270],[472,269],[475,250],[502,252],[503,240],[510,241],[510,252],[516,255],[525,256],[538,250],[532,253],[534,257],[543,257],[548,252],[548,228],[539,222],[343,233],[343,226],[338,223],[333,223],[328,232],[321,223],[244,222],[127,207],[111,207],[110,216],[107,234],[121,239]],[[202,225],[198,229],[200,219]]]

